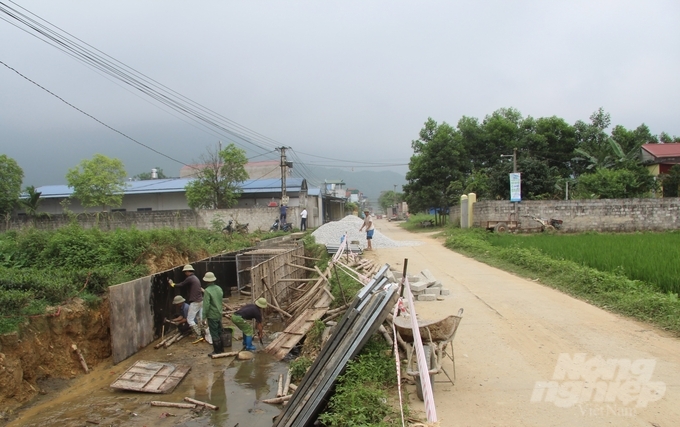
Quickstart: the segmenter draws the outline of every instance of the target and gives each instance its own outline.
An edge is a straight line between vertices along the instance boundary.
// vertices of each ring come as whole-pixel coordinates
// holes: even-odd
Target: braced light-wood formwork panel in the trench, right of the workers
[[[283,249],[258,249],[251,252],[255,256],[265,255],[265,253],[271,255],[265,261],[250,268],[253,300],[265,297],[269,303],[275,302],[285,310],[296,298],[296,294],[290,288],[313,280],[305,278],[307,276],[304,266],[305,249],[302,245]]]

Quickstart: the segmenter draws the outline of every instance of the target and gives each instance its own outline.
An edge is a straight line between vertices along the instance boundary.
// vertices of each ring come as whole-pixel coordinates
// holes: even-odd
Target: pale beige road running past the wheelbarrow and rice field
[[[454,341],[456,384],[434,385],[441,426],[680,425],[678,338],[459,255],[396,223],[376,225],[393,240],[423,245],[368,257],[399,269],[408,258],[411,274],[427,268],[451,290],[445,301],[416,303],[420,318],[465,309]],[[451,362],[445,366],[450,372]],[[424,411],[415,387],[409,391],[411,408]]]

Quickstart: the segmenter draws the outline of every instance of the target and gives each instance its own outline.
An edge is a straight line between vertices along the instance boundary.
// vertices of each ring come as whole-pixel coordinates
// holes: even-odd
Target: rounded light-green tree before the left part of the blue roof
[[[123,162],[103,154],[95,154],[91,160],[83,160],[79,166],[66,174],[68,186],[73,188],[73,198],[83,207],[118,207],[123,203],[125,177]]]

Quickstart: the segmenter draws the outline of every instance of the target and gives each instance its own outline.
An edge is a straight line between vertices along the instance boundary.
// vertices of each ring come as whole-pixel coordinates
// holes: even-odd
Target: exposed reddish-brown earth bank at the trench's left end
[[[72,344],[90,367],[109,357],[110,335],[108,301],[91,309],[78,298],[0,335],[0,415],[40,393],[43,380],[82,374]]]

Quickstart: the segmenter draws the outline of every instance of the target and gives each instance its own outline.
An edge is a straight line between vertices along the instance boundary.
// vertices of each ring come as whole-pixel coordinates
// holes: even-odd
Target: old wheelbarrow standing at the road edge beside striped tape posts
[[[420,339],[423,343],[425,361],[430,374],[430,384],[434,384],[434,376],[440,372],[448,378],[452,385],[456,383],[456,361],[453,354],[453,339],[456,336],[458,325],[463,319],[463,309],[458,310],[458,315],[448,316],[441,320],[419,320]],[[394,326],[397,333],[408,344],[406,374],[414,378],[416,382],[416,394],[423,400],[423,385],[418,370],[418,361],[413,346],[413,329],[409,317],[395,317]],[[449,345],[451,346],[449,349]],[[453,378],[443,367],[446,358],[451,359],[453,364]],[[434,390],[433,390],[434,391]]]

